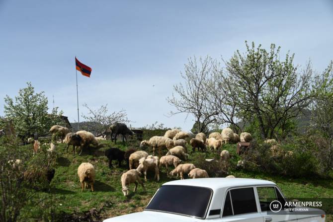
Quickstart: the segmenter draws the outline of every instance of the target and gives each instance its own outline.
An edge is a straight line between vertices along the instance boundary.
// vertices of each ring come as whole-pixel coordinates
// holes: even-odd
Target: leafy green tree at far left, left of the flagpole
[[[15,99],[6,95],[4,102],[5,117],[23,138],[45,135],[52,125],[61,122],[62,112],[58,113],[58,108],[55,108],[48,115],[48,100],[44,92],[35,93],[31,82],[27,82],[27,87],[19,90]]]

